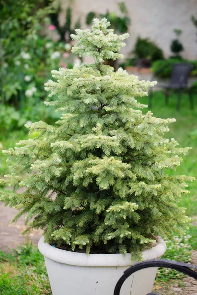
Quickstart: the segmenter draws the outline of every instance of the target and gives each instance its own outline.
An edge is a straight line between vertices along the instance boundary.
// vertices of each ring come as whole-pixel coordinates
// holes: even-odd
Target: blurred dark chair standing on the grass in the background
[[[152,77],[152,80],[155,80],[155,76],[157,76],[159,73],[163,71],[165,67],[169,66],[166,64],[164,67],[159,69],[154,73],[154,76]],[[194,103],[193,103],[193,97],[192,97],[192,88],[188,87],[188,77],[189,74],[192,70],[192,65],[189,63],[175,63],[172,65],[172,73],[171,73],[171,78],[170,78],[170,83],[169,85],[162,85],[158,84],[159,87],[165,89],[165,102],[168,104],[169,102],[169,91],[171,89],[176,89],[178,92],[178,101],[177,101],[177,106],[176,109],[180,109],[180,104],[181,104],[181,95],[183,90],[188,91],[189,95],[189,100],[190,100],[190,108],[194,109]],[[152,97],[153,97],[153,91],[150,89],[150,94],[149,94],[149,107],[152,106]]]

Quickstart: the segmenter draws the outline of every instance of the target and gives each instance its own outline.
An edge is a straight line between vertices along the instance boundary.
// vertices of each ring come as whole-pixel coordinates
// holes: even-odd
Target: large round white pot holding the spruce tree
[[[113,295],[115,285],[132,263],[130,254],[85,254],[65,251],[38,243],[45,257],[53,295]],[[166,244],[158,237],[157,245],[143,252],[143,259],[161,257]],[[120,295],[146,295],[152,291],[157,268],[134,273],[124,282]]]

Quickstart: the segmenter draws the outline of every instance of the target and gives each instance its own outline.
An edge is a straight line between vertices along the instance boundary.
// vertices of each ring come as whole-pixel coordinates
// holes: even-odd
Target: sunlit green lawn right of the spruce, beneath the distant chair
[[[148,97],[139,99],[140,102],[148,104]],[[176,174],[194,176],[197,179],[197,135],[191,132],[197,129],[197,94],[194,95],[195,109],[190,110],[187,94],[182,97],[181,108],[176,111],[177,95],[172,93],[169,98],[169,105],[165,105],[163,91],[153,93],[151,111],[154,116],[160,118],[175,118],[176,122],[169,125],[170,132],[165,134],[166,138],[174,137],[180,147],[192,147],[192,150],[183,157],[181,166],[177,168]],[[145,109],[147,111],[147,109]],[[145,111],[144,110],[144,111]],[[180,206],[187,208],[187,214],[197,215],[197,181],[188,183],[190,194],[183,196]]]

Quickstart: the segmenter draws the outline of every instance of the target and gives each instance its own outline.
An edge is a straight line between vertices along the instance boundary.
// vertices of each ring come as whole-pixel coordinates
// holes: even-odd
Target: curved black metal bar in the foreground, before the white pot
[[[192,269],[195,269],[197,271],[197,266],[193,266],[187,263],[172,261],[172,260],[166,260],[166,259],[146,260],[146,261],[138,262],[135,265],[128,268],[127,270],[125,270],[124,274],[122,275],[122,277],[118,280],[116,284],[116,287],[114,289],[114,295],[120,295],[121,286],[131,274],[133,274],[134,272],[138,270],[149,268],[149,267],[164,267],[164,268],[175,269],[197,280],[197,272],[192,270]],[[160,294],[156,292],[151,292],[151,293],[148,293],[147,295],[160,295]]]

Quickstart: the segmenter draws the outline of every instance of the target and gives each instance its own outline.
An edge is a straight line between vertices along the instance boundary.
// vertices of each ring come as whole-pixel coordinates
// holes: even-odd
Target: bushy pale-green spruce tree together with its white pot
[[[56,126],[43,121],[26,126],[38,136],[5,151],[15,157],[15,172],[1,182],[5,205],[26,215],[24,233],[43,230],[39,250],[45,256],[53,295],[112,295],[132,261],[164,254],[162,238],[188,222],[180,196],[186,180],[166,169],[180,165],[174,139],[164,138],[175,119],[155,118],[136,98],[156,82],[139,81],[121,68],[114,72],[104,59],[119,59],[125,43],[94,19],[92,30],[76,30],[73,52],[95,62],[52,71],[49,96],[64,114]],[[23,193],[17,193],[25,187]],[[89,255],[87,255],[89,254]],[[155,269],[126,281],[122,294],[151,291]],[[132,288],[131,288],[132,286]]]

